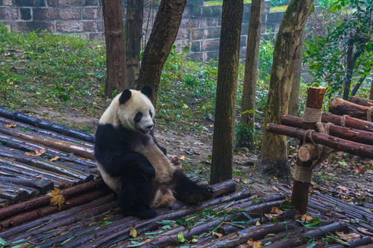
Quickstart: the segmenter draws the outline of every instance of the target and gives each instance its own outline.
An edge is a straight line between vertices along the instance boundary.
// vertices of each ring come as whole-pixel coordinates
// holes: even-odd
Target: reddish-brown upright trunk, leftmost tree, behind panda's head
[[[113,96],[114,90],[128,88],[126,77],[126,46],[124,45],[124,24],[122,1],[103,0],[105,40],[106,40],[106,79],[105,95]]]

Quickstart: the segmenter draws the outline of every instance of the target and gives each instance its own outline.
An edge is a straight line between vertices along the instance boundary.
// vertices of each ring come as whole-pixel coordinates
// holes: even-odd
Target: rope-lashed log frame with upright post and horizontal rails
[[[316,112],[321,110],[325,90],[325,87],[310,87],[306,107]],[[328,125],[328,134],[323,132],[309,133],[307,130],[316,130],[316,121],[306,123],[302,118],[287,114],[280,118],[283,125],[268,123],[267,130],[300,139],[301,146],[298,149],[297,167],[311,167],[318,158],[323,158],[323,154],[320,153],[324,150],[316,147],[315,143],[336,151],[373,158],[373,123],[365,121],[371,119],[373,107],[371,109],[370,106],[373,106],[373,101],[358,97],[352,97],[350,101],[332,99],[329,104],[329,112],[332,114],[323,113],[320,116],[321,124],[324,127],[325,123],[332,123]],[[302,145],[303,140],[308,143]],[[291,203],[301,214],[307,212],[309,185],[309,182],[300,182],[294,179]]]

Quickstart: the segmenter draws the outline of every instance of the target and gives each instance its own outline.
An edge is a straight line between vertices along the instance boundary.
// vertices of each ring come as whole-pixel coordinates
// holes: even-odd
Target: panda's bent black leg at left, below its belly
[[[124,214],[142,219],[157,216],[157,211],[150,207],[154,198],[153,178],[137,171],[122,175],[121,180],[122,188],[120,194],[118,194],[118,201]]]

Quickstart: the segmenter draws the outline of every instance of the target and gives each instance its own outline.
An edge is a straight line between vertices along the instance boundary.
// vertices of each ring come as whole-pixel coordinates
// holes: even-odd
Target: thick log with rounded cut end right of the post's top
[[[367,106],[358,105],[356,103],[350,103],[343,99],[334,98],[330,101],[329,112],[332,114],[344,115],[347,114],[352,117],[361,118],[367,120]]]

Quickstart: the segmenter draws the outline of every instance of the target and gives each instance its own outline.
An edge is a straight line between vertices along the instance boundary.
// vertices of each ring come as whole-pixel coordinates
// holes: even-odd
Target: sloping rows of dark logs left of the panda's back
[[[0,207],[96,178],[93,142],[92,135],[0,108]]]

